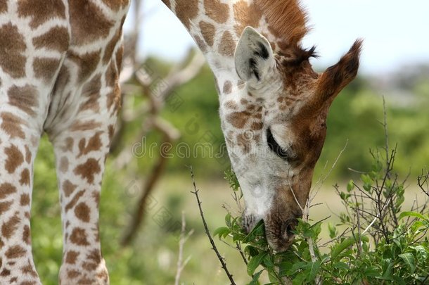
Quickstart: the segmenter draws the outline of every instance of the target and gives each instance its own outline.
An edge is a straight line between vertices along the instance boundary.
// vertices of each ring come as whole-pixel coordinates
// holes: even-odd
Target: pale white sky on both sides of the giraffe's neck
[[[143,0],[141,56],[179,60],[195,46],[160,0]],[[428,0],[302,0],[311,32],[305,47],[316,45],[316,67],[335,64],[357,38],[364,39],[361,74],[382,75],[404,66],[429,63]],[[125,31],[133,25],[129,14]]]

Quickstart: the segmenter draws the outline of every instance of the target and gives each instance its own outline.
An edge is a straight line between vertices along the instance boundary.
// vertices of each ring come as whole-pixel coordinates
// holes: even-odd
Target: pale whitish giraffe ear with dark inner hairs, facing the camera
[[[260,82],[276,64],[271,44],[252,27],[241,34],[234,60],[238,76],[246,82]]]

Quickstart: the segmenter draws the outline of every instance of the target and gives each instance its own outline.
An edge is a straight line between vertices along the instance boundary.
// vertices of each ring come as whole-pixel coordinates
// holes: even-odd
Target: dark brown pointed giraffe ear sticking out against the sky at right
[[[335,98],[347,84],[354,80],[359,68],[361,46],[362,40],[358,39],[337,64],[321,75],[316,92],[318,99],[326,101]]]

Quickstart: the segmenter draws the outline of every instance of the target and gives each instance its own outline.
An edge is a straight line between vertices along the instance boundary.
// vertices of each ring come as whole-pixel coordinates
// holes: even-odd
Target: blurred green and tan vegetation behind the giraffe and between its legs
[[[133,41],[135,44],[136,39],[129,40]],[[204,234],[195,197],[190,193],[193,187],[186,166],[192,165],[196,172],[207,222],[211,229],[216,229],[224,224],[222,205],[233,205],[231,191],[224,180],[229,160],[226,153],[223,158],[180,158],[174,153],[174,147],[170,153],[172,158],[167,158],[161,166],[156,155],[133,156],[133,149],[134,153],[136,149],[143,152],[143,148],[136,148],[142,144],[154,146],[155,153],[164,152],[162,141],[165,141],[166,134],[152,126],[151,111],[144,107],[154,105],[153,97],[148,94],[156,97],[158,91],[165,89],[169,83],[164,79],[174,73],[177,66],[177,63],[166,62],[162,58],[146,58],[141,63],[135,61],[135,57],[133,59],[133,53],[135,51],[129,51],[131,59],[125,61],[133,71],[128,72],[129,77],[124,80],[120,132],[116,134],[107,161],[101,194],[101,241],[111,284],[174,284],[182,211],[186,215],[187,229],[195,232],[184,246],[184,259],[191,259],[181,274],[181,281],[184,284],[207,284],[210,280],[210,284],[227,284],[219,260]],[[195,53],[191,52],[184,65],[191,63],[193,56]],[[149,73],[151,80],[146,83],[144,78],[137,80],[135,70]],[[214,150],[219,150],[224,138],[214,79],[207,65],[198,71],[186,84],[174,86],[169,99],[156,110],[156,117],[168,122],[167,129],[173,130],[174,134],[180,134],[179,139],[175,135],[167,139],[173,146],[186,144],[192,148],[196,144],[209,143]],[[126,70],[124,74],[127,74]],[[327,171],[326,167],[331,168],[348,143],[319,193],[319,201],[328,203],[312,210],[317,220],[338,213],[340,198],[335,196],[331,185],[346,184],[359,177],[359,172],[370,170],[369,149],[385,145],[384,129],[380,123],[384,116],[383,96],[387,106],[390,146],[397,144],[395,170],[400,177],[409,175],[406,196],[408,203],[412,203],[416,194],[416,177],[429,161],[428,78],[429,64],[403,66],[377,76],[361,75],[334,101],[328,115],[328,136],[316,165],[314,181]],[[159,169],[154,168],[157,165]],[[151,179],[153,171],[163,168],[165,171],[159,172],[153,191],[144,201],[146,209],[142,226],[129,246],[122,246],[121,241],[135,215],[134,209],[145,183]],[[332,222],[335,223],[335,217]],[[57,284],[62,251],[60,207],[53,151],[46,137],[41,141],[34,166],[32,243],[43,284]],[[217,243],[238,284],[250,281],[236,251],[221,241]]]

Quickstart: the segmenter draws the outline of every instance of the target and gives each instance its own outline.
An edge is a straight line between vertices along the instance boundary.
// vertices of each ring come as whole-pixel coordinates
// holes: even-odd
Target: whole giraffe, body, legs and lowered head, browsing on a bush
[[[303,49],[297,0],[163,0],[207,58],[243,226],[264,220],[284,251],[302,215],[335,96],[354,79],[361,42],[318,74]],[[32,260],[33,163],[46,132],[63,223],[60,284],[108,284],[98,203],[120,109],[129,0],[0,0],[0,284],[41,284]]]

